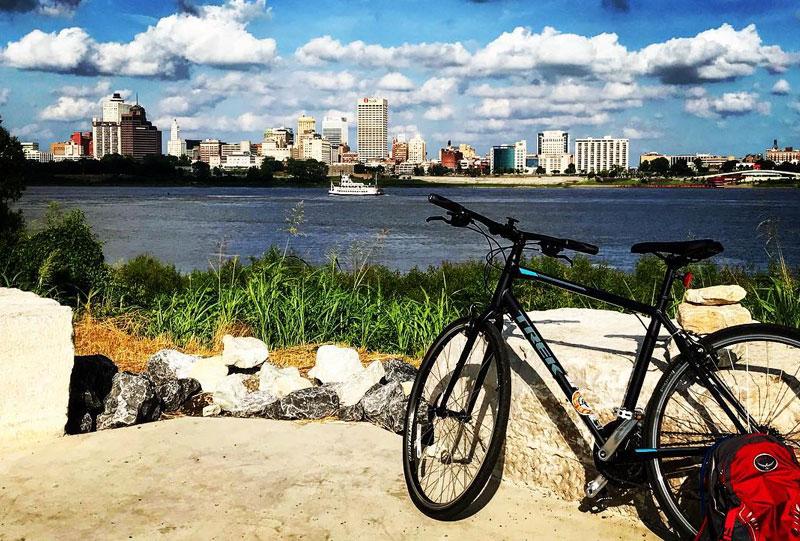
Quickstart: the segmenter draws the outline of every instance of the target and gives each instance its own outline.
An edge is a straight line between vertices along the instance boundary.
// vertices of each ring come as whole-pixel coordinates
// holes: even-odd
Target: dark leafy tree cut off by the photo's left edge
[[[22,145],[3,127],[0,117],[0,264],[24,230],[22,212],[11,210],[11,203],[22,197],[27,162]]]

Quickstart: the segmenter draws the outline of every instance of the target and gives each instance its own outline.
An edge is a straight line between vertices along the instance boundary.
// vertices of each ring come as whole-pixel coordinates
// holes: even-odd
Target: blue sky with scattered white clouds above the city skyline
[[[0,0],[0,114],[42,144],[138,92],[164,130],[261,139],[390,103],[390,131],[479,152],[565,129],[656,150],[800,146],[800,5],[643,0]],[[319,125],[318,125],[319,128]]]

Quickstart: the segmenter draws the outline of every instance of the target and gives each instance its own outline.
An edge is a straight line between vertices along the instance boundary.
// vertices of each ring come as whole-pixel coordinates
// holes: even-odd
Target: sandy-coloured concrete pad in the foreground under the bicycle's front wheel
[[[470,518],[429,519],[401,438],[363,423],[187,417],[0,456],[0,539],[658,539],[505,484]]]

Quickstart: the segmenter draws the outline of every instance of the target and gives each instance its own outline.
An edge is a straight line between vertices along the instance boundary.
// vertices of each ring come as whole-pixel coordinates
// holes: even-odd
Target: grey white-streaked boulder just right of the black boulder
[[[103,413],[97,417],[97,429],[119,428],[156,421],[161,416],[161,400],[149,377],[130,372],[114,375],[111,392]]]

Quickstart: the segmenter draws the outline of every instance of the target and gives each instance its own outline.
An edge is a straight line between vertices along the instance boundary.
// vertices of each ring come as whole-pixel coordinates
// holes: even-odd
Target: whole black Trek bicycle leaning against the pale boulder
[[[722,252],[713,240],[647,242],[631,248],[655,254],[666,273],[655,306],[572,283],[520,265],[526,248],[550,257],[564,250],[597,254],[596,246],[517,229],[432,194],[447,210],[432,216],[511,244],[488,307],[454,321],[436,338],[411,390],[403,436],[403,469],[411,499],[440,520],[459,517],[486,487],[502,449],[511,401],[508,354],[501,335],[504,317],[516,323],[541,357],[567,402],[594,437],[599,475],[587,483],[589,497],[615,486],[649,481],[670,524],[691,536],[700,524],[699,468],[708,448],[730,434],[764,432],[800,454],[800,332],[778,325],[747,324],[699,337],[666,315],[682,267]],[[486,229],[484,229],[484,227]],[[487,232],[488,230],[488,232]],[[604,301],[650,318],[616,419],[602,425],[581,391],[514,297],[515,280],[533,280]],[[637,408],[662,326],[680,351],[655,387],[647,407]]]

